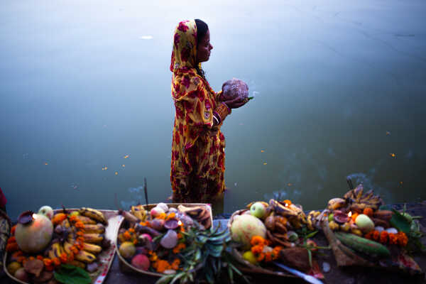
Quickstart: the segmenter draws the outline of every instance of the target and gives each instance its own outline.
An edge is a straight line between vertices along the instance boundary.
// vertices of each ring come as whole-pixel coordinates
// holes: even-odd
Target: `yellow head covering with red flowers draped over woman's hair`
[[[170,71],[174,74],[187,72],[196,67],[197,24],[195,20],[181,21],[173,36],[173,52]]]

